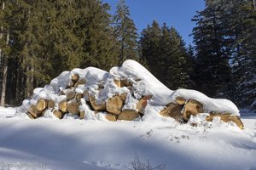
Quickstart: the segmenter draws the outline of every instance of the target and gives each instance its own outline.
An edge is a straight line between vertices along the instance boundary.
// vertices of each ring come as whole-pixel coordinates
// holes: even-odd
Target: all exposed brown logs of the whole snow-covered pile
[[[131,88],[131,82],[125,80],[114,80],[117,87],[127,87]],[[127,94],[115,95],[108,99],[106,102],[98,103],[93,95],[88,94],[88,91],[84,91],[83,94],[76,92],[76,88],[79,84],[85,84],[84,79],[79,79],[79,75],[73,75],[71,81],[68,83],[67,88],[60,91],[59,95],[66,95],[66,99],[62,100],[60,103],[55,104],[55,101],[51,99],[38,99],[36,105],[31,105],[30,109],[27,111],[27,115],[32,118],[38,118],[39,116],[44,116],[45,111],[52,111],[57,118],[63,118],[67,113],[72,115],[79,115],[81,119],[84,119],[84,111],[79,111],[79,106],[82,105],[80,100],[82,98],[87,99],[87,104],[90,105],[90,109],[98,112],[105,112],[106,119],[108,121],[126,120],[132,121],[138,117],[143,116],[144,109],[148,104],[148,99],[152,96],[143,96],[138,99],[136,110],[124,110],[125,99]],[[103,86],[99,86],[103,88]],[[99,89],[101,90],[101,89]],[[177,122],[188,122],[190,116],[195,116],[198,113],[203,113],[203,105],[196,101],[195,99],[183,99],[182,97],[177,97],[174,103],[166,105],[163,111],[160,111],[161,116],[171,116],[177,120]],[[235,122],[238,127],[243,128],[243,124],[238,116],[232,116],[229,113],[216,113],[210,112],[206,120],[212,122],[213,117],[219,116],[224,122]]]

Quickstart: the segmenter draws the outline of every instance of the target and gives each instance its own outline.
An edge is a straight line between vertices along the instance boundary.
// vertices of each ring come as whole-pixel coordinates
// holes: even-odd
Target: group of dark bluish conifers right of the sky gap
[[[249,106],[256,99],[255,6],[247,0],[206,1],[193,29],[199,89]],[[254,102],[256,103],[256,102]]]

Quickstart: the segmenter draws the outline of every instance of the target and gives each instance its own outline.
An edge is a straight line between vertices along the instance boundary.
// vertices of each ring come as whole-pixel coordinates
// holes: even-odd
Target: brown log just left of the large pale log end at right
[[[163,111],[160,111],[161,116],[171,116],[174,118],[177,122],[180,122],[183,118],[182,109],[180,105],[170,103],[169,105],[166,105],[166,108]]]

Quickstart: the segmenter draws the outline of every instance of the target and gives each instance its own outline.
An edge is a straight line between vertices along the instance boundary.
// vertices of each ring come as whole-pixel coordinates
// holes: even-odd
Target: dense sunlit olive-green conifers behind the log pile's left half
[[[13,93],[7,102],[29,97],[33,88],[44,87],[61,71],[88,66],[108,70],[117,65],[108,4],[98,0],[6,2],[9,10],[0,17],[11,42],[7,91]]]

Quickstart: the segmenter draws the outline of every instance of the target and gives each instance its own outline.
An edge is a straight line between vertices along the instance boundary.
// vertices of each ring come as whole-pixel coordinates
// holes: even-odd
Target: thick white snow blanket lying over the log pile
[[[84,90],[87,90],[89,95],[96,97],[97,102],[106,101],[116,94],[130,93],[132,96],[128,96],[128,99],[126,99],[124,109],[134,109],[137,99],[145,95],[152,95],[152,98],[148,100],[148,105],[145,108],[143,121],[161,119],[162,117],[160,117],[158,113],[165,105],[175,102],[177,96],[185,99],[198,100],[203,104],[205,111],[229,112],[236,116],[240,115],[236,105],[228,99],[211,99],[205,94],[201,94],[195,90],[177,89],[176,91],[172,91],[166,88],[166,86],[145,69],[143,65],[131,59],[126,60],[120,67],[113,67],[109,72],[94,67],[63,71],[60,76],[55,77],[49,85],[46,85],[44,88],[34,89],[32,99],[24,100],[22,106],[17,110],[17,114],[23,114],[30,105],[36,105],[38,99],[53,99],[57,109],[57,104],[61,102],[61,100],[66,99],[65,95],[58,94],[61,90],[63,91],[67,88],[74,74],[79,74],[79,80],[85,80],[86,82],[85,84],[79,85],[78,88],[76,88],[76,92],[83,94]],[[118,88],[113,82],[114,79],[124,79],[131,82],[132,89],[126,87]],[[88,96],[84,96],[84,99],[88,99]],[[89,111],[90,108],[84,102],[80,110]],[[92,115],[89,115],[89,117],[90,119],[96,119],[96,117]]]

